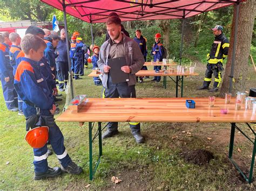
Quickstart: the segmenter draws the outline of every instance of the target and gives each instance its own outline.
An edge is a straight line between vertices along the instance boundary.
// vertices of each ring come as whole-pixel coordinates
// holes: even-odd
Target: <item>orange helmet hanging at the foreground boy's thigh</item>
[[[29,130],[26,133],[26,142],[33,148],[41,148],[48,142],[49,128],[48,126],[39,126]]]

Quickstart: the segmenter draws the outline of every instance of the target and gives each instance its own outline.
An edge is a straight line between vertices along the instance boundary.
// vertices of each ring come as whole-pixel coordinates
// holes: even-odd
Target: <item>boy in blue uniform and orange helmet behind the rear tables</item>
[[[156,62],[157,60],[159,62],[163,61],[163,45],[160,43],[160,38],[161,38],[161,34],[160,33],[156,33],[156,35],[154,36],[154,41],[156,41],[156,43],[153,44],[152,47],[152,51],[151,51],[151,55],[153,55],[154,58],[154,62]],[[161,66],[154,66],[154,70],[160,70]],[[151,81],[156,81],[156,83],[159,83],[161,80],[161,76],[154,76],[154,78]]]

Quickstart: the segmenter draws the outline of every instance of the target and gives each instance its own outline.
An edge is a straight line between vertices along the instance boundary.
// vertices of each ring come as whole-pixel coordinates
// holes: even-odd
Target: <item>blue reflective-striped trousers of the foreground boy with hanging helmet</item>
[[[49,143],[52,146],[53,151],[59,160],[60,165],[64,168],[69,166],[71,158],[64,146],[64,137],[60,131],[58,125],[55,123],[53,116],[47,117],[47,124],[49,126]],[[45,144],[42,148],[33,148],[35,172],[46,172],[48,169],[48,155],[47,145]]]

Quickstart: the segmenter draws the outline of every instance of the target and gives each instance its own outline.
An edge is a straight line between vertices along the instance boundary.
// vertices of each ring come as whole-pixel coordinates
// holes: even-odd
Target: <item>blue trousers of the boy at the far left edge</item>
[[[18,107],[18,95],[14,89],[14,74],[12,70],[9,71],[10,81],[5,82],[4,76],[1,75],[2,90],[4,95],[4,101],[7,109],[13,109]]]

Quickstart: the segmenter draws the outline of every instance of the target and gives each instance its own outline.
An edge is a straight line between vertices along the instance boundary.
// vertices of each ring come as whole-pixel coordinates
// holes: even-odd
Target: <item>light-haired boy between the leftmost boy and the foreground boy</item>
[[[17,34],[16,32],[12,32],[10,33],[9,36],[10,40],[11,40],[11,48],[9,51],[9,56],[10,56],[10,65],[13,68],[13,73],[15,76],[16,73],[16,69],[18,67],[18,64],[21,60],[19,60],[19,53],[21,52],[21,37],[19,37],[19,34]],[[23,115],[23,111],[22,111],[22,103],[23,101],[21,100],[21,97],[18,96],[18,115]]]

